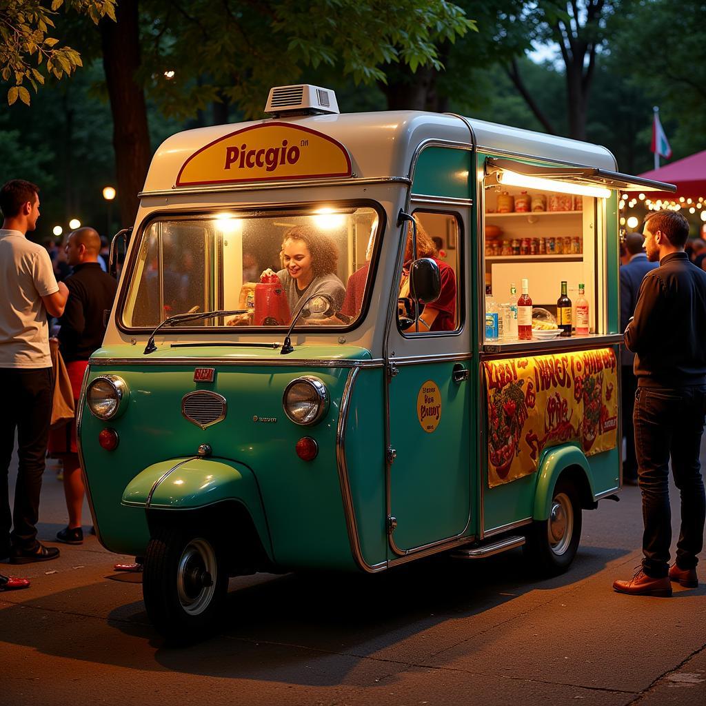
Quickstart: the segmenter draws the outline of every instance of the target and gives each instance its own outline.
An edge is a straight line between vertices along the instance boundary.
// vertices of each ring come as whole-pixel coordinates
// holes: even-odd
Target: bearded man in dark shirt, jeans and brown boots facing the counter
[[[642,567],[616,591],[671,596],[671,581],[698,586],[706,498],[699,449],[706,416],[706,273],[689,261],[689,225],[676,211],[645,217],[645,275],[625,342],[635,352],[635,450],[642,491]],[[681,493],[681,532],[669,568],[669,457]]]

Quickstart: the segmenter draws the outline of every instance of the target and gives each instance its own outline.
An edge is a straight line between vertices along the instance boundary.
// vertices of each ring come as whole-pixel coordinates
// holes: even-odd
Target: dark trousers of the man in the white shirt
[[[10,543],[32,549],[37,542],[44,457],[52,419],[53,377],[51,368],[0,368],[0,389],[4,394],[0,405],[0,549],[7,549]],[[19,465],[11,514],[8,470],[16,429]]]

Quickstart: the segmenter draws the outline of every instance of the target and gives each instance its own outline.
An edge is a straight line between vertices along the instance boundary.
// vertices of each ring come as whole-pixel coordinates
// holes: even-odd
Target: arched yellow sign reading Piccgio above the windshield
[[[289,123],[243,128],[194,152],[177,186],[350,177],[346,148],[333,138]]]

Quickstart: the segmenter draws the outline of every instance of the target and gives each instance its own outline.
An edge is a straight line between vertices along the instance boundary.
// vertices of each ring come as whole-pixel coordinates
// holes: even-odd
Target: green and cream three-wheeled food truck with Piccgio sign
[[[565,571],[621,488],[619,192],[672,187],[311,85],[266,113],[157,150],[83,381],[97,535],[144,558],[157,630],[202,634],[245,573]]]

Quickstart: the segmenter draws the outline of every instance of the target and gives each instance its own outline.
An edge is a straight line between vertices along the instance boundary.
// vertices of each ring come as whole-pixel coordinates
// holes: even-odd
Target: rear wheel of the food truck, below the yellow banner
[[[530,568],[539,575],[564,573],[581,540],[581,505],[575,485],[559,479],[551,497],[549,518],[533,522],[522,549]]]

